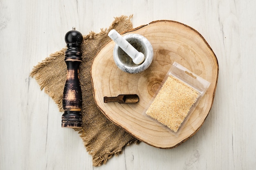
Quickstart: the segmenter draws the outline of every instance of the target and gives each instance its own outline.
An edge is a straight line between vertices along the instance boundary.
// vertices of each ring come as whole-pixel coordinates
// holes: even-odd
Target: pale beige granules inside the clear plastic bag
[[[177,132],[200,93],[169,75],[146,114]]]

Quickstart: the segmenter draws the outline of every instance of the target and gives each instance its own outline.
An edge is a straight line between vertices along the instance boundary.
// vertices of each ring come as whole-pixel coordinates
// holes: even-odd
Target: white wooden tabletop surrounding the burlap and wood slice
[[[253,0],[1,0],[0,170],[255,169],[255,9]],[[65,47],[72,26],[98,33],[130,14],[134,27],[175,20],[201,33],[219,62],[216,95],[202,128],[177,148],[133,144],[93,167],[79,134],[61,128],[62,113],[29,73]]]

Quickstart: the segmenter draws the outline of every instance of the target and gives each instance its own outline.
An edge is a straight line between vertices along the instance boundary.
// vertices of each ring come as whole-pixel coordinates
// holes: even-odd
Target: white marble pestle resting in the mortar
[[[143,53],[137,51],[126,39],[124,39],[115,29],[109,31],[108,36],[122,49],[126,54],[132,58],[135,64],[141,64],[145,56]]]

